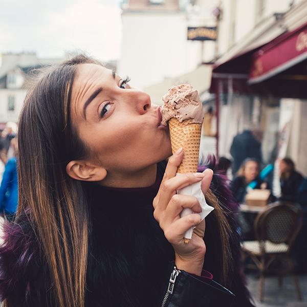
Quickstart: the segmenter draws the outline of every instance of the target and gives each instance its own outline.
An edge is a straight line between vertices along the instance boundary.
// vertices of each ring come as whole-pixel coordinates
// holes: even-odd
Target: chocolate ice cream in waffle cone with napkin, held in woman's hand
[[[184,156],[178,167],[178,174],[197,172],[201,130],[203,117],[202,102],[198,92],[189,84],[179,84],[171,87],[163,96],[163,108],[161,111],[161,124],[168,123],[172,152],[180,147],[184,149]],[[197,185],[196,185],[197,184]],[[194,183],[177,190],[182,195],[204,195],[200,183]],[[200,197],[201,199],[201,197]],[[203,202],[203,200],[200,200]],[[190,208],[184,208],[181,217],[193,213]],[[193,227],[188,229],[183,238],[185,244],[189,243],[193,234]]]

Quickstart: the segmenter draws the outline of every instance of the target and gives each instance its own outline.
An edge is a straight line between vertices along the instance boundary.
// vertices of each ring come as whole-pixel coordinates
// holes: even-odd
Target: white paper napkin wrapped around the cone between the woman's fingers
[[[181,173],[177,173],[176,176],[180,176]],[[202,221],[204,220],[204,218],[214,209],[213,207],[209,206],[206,202],[204,193],[202,191],[201,188],[202,182],[196,182],[193,183],[189,186],[186,186],[182,189],[178,189],[177,190],[177,194],[181,194],[181,195],[191,195],[191,196],[195,196],[196,199],[198,199],[198,201],[201,204],[202,207],[202,212],[199,213],[201,215]],[[182,212],[180,213],[180,216],[186,216],[193,213],[193,210],[190,208],[184,208],[182,210]],[[190,228],[184,235],[185,238],[187,239],[191,239],[192,238],[192,234],[193,234],[193,229],[195,227]]]

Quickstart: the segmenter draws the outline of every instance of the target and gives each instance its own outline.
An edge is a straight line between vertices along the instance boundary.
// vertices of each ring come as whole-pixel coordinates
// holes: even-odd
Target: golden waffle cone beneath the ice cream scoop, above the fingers
[[[178,172],[197,172],[202,124],[194,123],[192,120],[180,122],[177,118],[171,118],[168,126],[172,152],[176,152],[180,147],[184,150]]]

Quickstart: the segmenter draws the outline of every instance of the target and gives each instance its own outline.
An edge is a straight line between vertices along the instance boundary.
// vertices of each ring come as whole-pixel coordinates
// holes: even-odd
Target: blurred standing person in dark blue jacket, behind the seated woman
[[[255,158],[262,162],[261,143],[255,138],[251,130],[244,130],[243,133],[233,138],[230,154],[232,156],[232,174],[235,176],[243,161],[247,158]]]

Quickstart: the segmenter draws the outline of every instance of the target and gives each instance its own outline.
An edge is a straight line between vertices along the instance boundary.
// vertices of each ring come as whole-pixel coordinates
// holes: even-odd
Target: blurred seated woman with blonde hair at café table
[[[266,182],[259,179],[260,163],[254,158],[247,158],[238,170],[237,177],[232,181],[230,188],[233,196],[238,203],[244,203],[248,185],[256,180],[255,189],[268,188]]]

